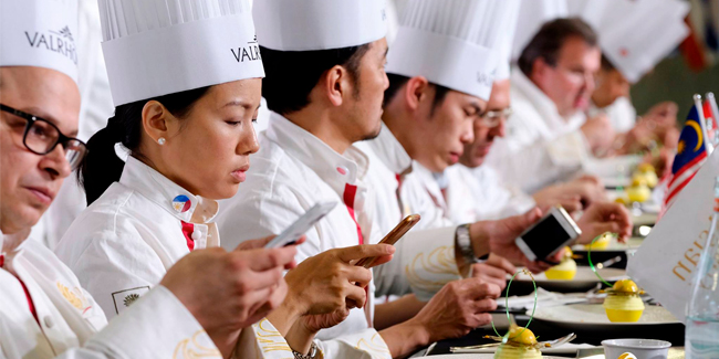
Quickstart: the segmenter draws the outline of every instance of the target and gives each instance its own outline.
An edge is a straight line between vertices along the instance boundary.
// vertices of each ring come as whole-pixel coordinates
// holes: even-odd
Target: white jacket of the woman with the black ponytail
[[[219,245],[210,222],[218,208],[129,157],[119,182],[81,213],[55,253],[113,318],[190,247]]]

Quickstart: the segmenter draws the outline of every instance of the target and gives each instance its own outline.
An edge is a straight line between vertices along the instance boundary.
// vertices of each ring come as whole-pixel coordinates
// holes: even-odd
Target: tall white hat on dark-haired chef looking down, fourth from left
[[[489,99],[498,45],[512,1],[410,0],[387,55],[387,72]]]

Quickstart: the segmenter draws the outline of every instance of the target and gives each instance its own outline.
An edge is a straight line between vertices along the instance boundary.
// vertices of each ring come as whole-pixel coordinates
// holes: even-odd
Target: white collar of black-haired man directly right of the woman
[[[340,194],[344,193],[346,183],[357,184],[367,173],[369,161],[359,149],[350,146],[344,155],[340,155],[311,133],[274,112],[270,114],[264,135],[312,169]]]

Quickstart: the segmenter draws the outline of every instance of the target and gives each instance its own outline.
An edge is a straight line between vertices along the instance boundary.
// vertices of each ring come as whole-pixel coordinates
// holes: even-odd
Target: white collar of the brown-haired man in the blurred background
[[[567,128],[579,128],[584,123],[585,116],[582,112],[577,112],[569,118],[561,116],[554,102],[519,68],[512,71],[511,82],[512,89],[532,104],[549,131],[565,131]]]

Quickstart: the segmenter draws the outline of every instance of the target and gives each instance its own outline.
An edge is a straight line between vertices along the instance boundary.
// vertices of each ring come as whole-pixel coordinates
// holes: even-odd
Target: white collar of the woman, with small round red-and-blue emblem
[[[139,192],[180,221],[207,223],[219,211],[217,201],[194,196],[134,157],[128,157],[119,183]]]

